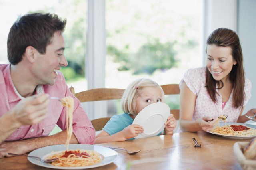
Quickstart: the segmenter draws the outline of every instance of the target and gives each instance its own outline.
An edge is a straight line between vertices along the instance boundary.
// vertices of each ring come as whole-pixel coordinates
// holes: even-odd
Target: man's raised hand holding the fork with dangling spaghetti
[[[50,99],[48,94],[39,94],[21,100],[11,111],[12,119],[20,125],[32,125],[46,118]]]

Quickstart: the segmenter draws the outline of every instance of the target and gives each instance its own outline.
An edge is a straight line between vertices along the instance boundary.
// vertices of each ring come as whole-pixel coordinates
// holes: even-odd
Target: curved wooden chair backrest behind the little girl
[[[165,95],[175,95],[180,94],[180,89],[178,84],[168,84],[161,85],[164,90]],[[90,89],[75,93],[74,87],[70,87],[70,91],[80,100],[80,102],[88,101],[102,101],[102,100],[114,100],[121,99],[124,93],[124,89],[109,89],[109,88],[99,88]],[[175,119],[179,119],[180,110],[171,109],[171,113],[174,115]],[[109,121],[110,117],[98,118],[92,120],[92,125],[96,131],[102,130],[106,123]]]

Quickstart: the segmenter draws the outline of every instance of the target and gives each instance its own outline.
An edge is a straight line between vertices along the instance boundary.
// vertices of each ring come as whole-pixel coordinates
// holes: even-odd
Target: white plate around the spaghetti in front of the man
[[[87,168],[95,168],[95,167],[98,167],[98,166],[104,166],[104,165],[107,165],[107,164],[110,164],[111,162],[113,162],[118,156],[116,151],[114,151],[110,148],[106,148],[106,147],[103,147],[103,146],[97,146],[97,145],[69,144],[69,149],[70,150],[76,150],[76,149],[95,150],[96,152],[101,154],[102,161],[98,162],[94,165],[90,165],[90,166],[60,167],[60,166],[53,166],[49,163],[41,162],[40,160],[35,159],[35,158],[28,158],[28,160],[32,164],[36,164],[38,166],[43,166],[43,167],[47,167],[47,168],[76,170],[76,169],[87,169]],[[58,152],[58,151],[61,151],[61,150],[66,150],[66,145],[65,144],[59,144],[59,145],[46,146],[46,147],[43,147],[43,148],[39,148],[39,149],[36,149],[36,150],[30,152],[28,154],[28,156],[38,156],[39,158],[44,158],[45,155],[50,154],[52,151]]]

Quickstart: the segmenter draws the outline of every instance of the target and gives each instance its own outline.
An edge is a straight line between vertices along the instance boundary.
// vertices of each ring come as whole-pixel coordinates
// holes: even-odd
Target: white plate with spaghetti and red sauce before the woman
[[[221,122],[208,132],[226,138],[249,139],[256,137],[256,125]]]

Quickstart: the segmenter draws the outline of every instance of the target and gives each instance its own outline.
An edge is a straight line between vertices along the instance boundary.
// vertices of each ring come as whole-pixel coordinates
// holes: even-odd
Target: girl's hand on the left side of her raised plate
[[[134,138],[144,131],[140,125],[132,124],[122,130],[125,140]]]

